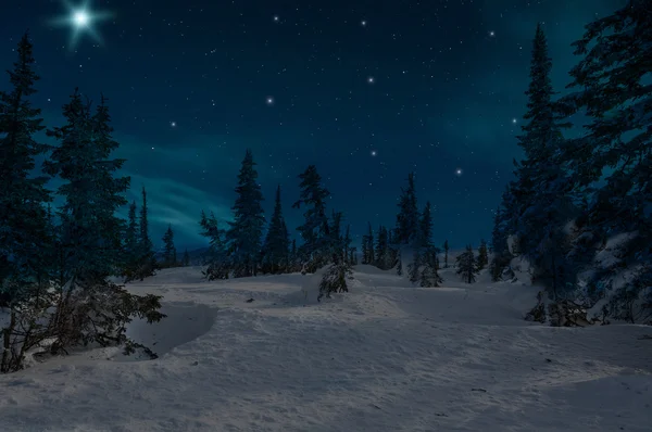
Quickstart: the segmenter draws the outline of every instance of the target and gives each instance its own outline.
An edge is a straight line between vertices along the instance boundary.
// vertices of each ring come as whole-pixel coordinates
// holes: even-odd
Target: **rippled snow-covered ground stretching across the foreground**
[[[92,351],[0,376],[0,431],[651,430],[649,327],[543,327],[522,318],[531,287],[443,277],[359,266],[318,304],[318,275],[161,271],[129,285],[164,295],[166,319],[129,328],[160,358]]]

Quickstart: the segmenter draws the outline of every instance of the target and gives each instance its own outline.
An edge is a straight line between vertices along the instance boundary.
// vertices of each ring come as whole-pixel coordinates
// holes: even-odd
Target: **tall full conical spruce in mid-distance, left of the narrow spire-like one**
[[[235,277],[255,276],[260,264],[265,216],[255,165],[251,150],[247,150],[238,174],[234,221],[228,223],[230,228],[226,234]]]

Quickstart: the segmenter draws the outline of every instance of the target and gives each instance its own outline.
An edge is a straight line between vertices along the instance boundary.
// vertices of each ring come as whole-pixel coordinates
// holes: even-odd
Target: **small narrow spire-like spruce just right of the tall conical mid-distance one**
[[[280,185],[276,188],[274,213],[263,244],[263,272],[286,272],[289,266],[290,238],[283,217]]]

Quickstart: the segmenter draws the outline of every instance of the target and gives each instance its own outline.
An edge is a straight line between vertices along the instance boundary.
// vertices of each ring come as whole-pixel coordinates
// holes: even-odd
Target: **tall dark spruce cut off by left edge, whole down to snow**
[[[43,206],[51,201],[47,179],[30,177],[35,156],[48,147],[34,139],[43,126],[29,101],[39,77],[27,34],[17,54],[9,71],[12,91],[0,92],[0,307],[9,308],[0,372],[20,370],[25,353],[48,336],[40,321],[51,304],[47,289],[54,262],[52,220]]]

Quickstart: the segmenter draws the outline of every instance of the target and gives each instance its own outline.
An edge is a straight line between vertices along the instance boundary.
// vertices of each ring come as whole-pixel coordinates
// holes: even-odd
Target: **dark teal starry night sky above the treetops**
[[[355,234],[367,220],[393,226],[414,170],[419,206],[436,208],[437,244],[489,239],[519,157],[536,23],[563,90],[577,62],[570,42],[622,1],[96,0],[74,39],[61,18],[82,1],[8,3],[1,67],[29,29],[41,76],[34,103],[49,127],[62,124],[75,87],[109,98],[128,198],[145,185],[156,244],[170,223],[183,250],[205,244],[202,208],[230,217],[247,148],[267,217],[280,183],[292,231],[297,176],[316,164]]]

